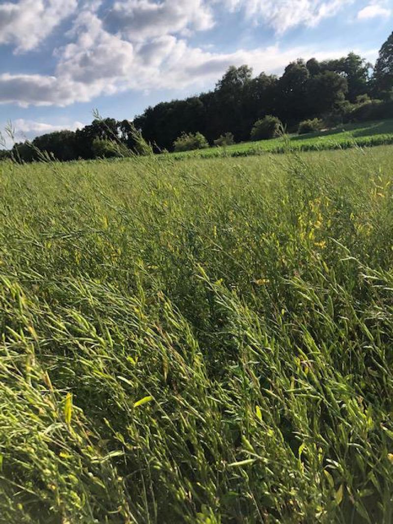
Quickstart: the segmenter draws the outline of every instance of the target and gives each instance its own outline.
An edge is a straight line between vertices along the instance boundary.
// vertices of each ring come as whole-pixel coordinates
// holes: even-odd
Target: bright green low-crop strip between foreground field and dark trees
[[[348,149],[353,147],[393,144],[393,119],[360,124],[344,124],[320,133],[288,135],[285,138],[245,142],[233,146],[172,153],[176,159],[184,157],[241,157],[261,155],[266,152],[283,153],[296,151],[321,151],[326,149]]]

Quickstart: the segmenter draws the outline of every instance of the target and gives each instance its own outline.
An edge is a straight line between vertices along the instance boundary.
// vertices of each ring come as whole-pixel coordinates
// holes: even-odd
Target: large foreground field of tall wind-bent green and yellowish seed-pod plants
[[[1,524],[391,523],[392,152],[0,164]]]

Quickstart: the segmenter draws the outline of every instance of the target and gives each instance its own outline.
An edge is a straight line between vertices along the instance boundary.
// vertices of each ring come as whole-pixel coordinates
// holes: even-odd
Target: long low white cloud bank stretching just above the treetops
[[[101,38],[115,38],[113,36]],[[185,40],[167,36],[151,40],[146,45],[125,48],[123,40],[109,40],[111,52],[107,60],[98,60],[94,54],[96,40],[91,45],[68,47],[63,51],[57,75],[0,75],[0,103],[19,105],[69,105],[76,101],[90,101],[95,96],[134,89],[184,89],[192,85],[204,89],[212,85],[232,64],[247,63],[256,73],[280,72],[290,61],[310,58],[305,47],[281,49],[278,46],[233,53],[207,52],[191,48]],[[157,52],[156,52],[157,51]],[[318,60],[337,58],[350,49],[337,49],[312,53]],[[356,49],[355,49],[356,52]],[[374,61],[377,50],[363,53]],[[111,59],[111,60],[110,60]],[[85,74],[85,66],[89,75]],[[110,68],[111,76],[108,76]]]

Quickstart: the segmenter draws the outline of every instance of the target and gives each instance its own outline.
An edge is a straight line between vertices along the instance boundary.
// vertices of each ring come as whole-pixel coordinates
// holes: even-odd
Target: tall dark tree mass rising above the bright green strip
[[[391,35],[381,48],[374,74],[372,65],[353,52],[322,62],[298,59],[287,65],[280,78],[266,73],[253,78],[248,65],[231,66],[213,91],[150,106],[134,124],[159,151],[172,150],[182,133],[198,131],[211,145],[228,132],[236,142],[249,140],[254,123],[266,115],[277,116],[288,130],[296,130],[300,122],[313,118],[342,122],[356,114],[353,111],[365,104],[365,97],[380,95],[389,100],[392,48]],[[374,109],[357,114],[372,118]]]

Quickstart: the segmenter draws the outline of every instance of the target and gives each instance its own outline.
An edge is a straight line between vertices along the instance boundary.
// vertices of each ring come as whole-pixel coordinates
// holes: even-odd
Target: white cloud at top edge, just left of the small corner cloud
[[[323,18],[334,16],[354,0],[217,0],[232,12],[244,10],[255,23],[263,21],[282,34],[291,27],[316,26]]]

